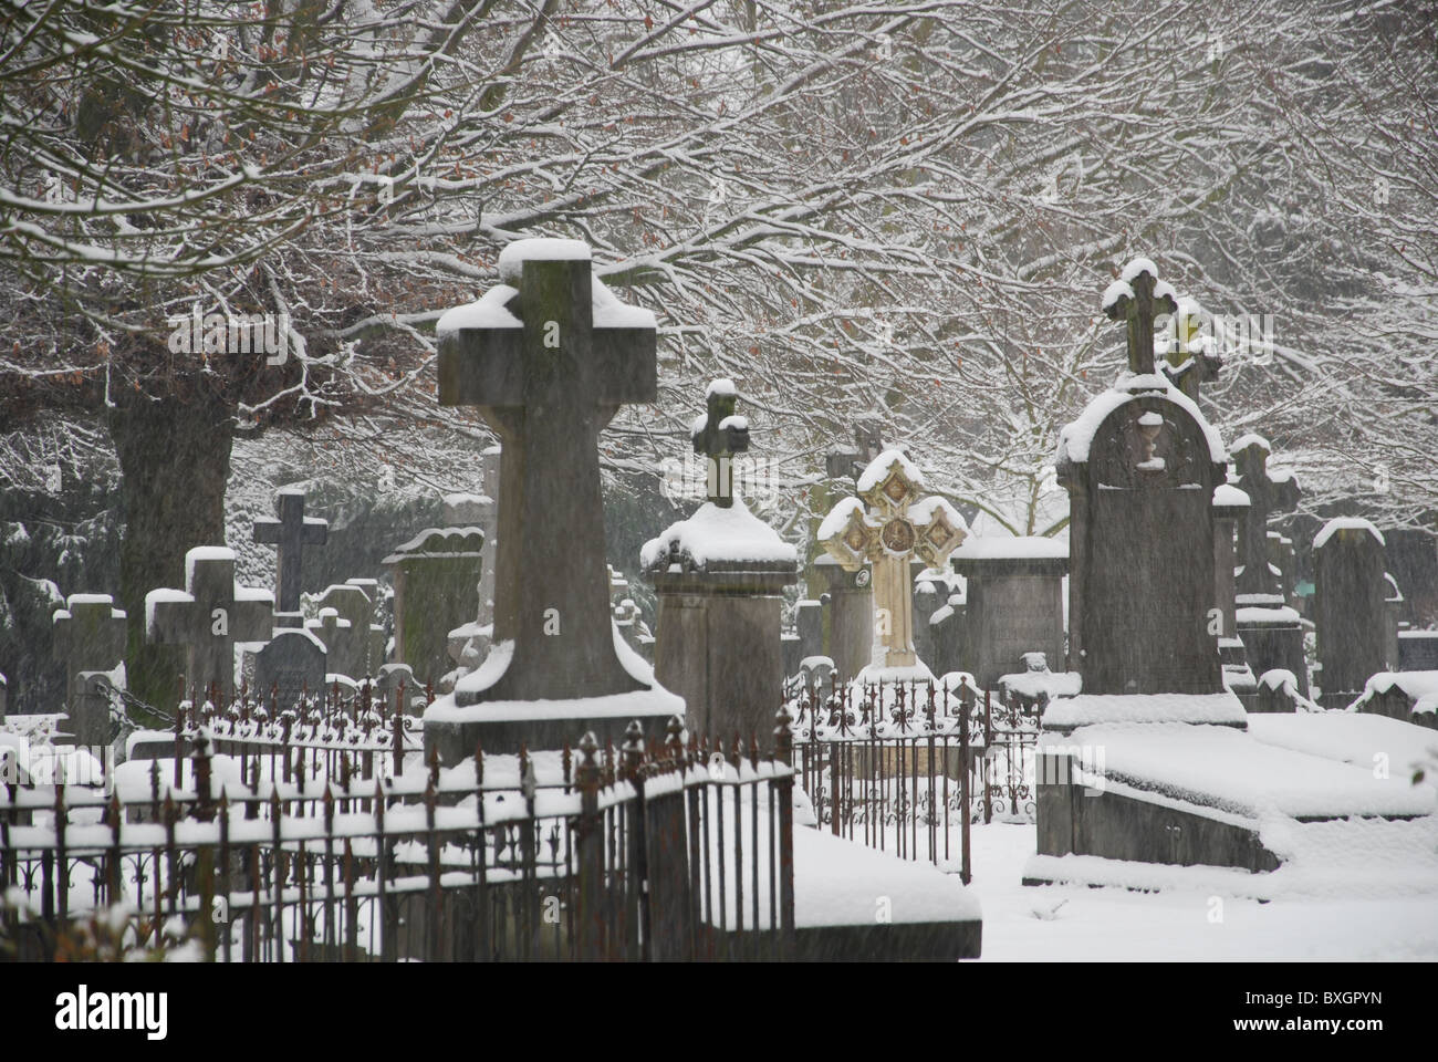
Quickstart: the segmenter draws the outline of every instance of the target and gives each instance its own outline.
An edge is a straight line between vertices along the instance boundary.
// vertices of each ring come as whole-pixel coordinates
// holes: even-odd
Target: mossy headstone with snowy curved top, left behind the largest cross
[[[479,613],[482,544],[477,527],[430,528],[384,558],[394,577],[394,662],[424,682],[453,668],[450,630]]]

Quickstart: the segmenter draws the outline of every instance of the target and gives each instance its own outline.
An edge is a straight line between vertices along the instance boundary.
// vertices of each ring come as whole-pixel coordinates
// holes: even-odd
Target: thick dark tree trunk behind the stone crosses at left
[[[184,650],[145,643],[145,593],[184,587],[184,555],[224,544],[234,404],[206,389],[151,399],[125,391],[109,410],[119,455],[125,532],[119,596],[129,613],[125,672],[139,699],[173,711]],[[127,393],[128,391],[128,393]]]

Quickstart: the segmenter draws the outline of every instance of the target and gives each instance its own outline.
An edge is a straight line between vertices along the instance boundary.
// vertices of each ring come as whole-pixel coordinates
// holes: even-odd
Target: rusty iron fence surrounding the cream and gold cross
[[[969,829],[1032,822],[1040,712],[962,684],[795,685],[800,783],[823,827],[972,878]]]

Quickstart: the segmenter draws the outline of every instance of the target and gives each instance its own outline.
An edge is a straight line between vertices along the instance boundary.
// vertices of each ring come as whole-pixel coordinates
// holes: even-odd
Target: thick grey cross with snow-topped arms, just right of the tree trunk
[[[234,643],[269,640],[275,596],[236,584],[233,550],[196,547],[186,554],[184,570],[184,590],[145,594],[145,639],[186,648],[187,686],[203,691],[219,682],[221,695],[229,695]]]

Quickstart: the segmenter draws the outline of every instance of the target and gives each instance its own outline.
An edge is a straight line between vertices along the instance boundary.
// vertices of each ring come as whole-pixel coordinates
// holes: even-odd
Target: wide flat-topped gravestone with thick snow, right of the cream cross
[[[969,535],[953,551],[953,570],[968,578],[962,666],[981,689],[1024,669],[1038,652],[1064,671],[1064,576],[1068,544],[1035,535]]]

